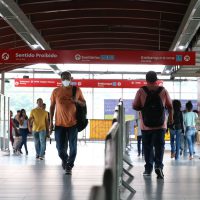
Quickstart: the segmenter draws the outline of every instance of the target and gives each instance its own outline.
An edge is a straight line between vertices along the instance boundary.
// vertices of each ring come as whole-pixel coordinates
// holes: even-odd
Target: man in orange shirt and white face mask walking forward
[[[51,94],[50,105],[50,131],[53,130],[53,117],[55,113],[55,140],[58,155],[62,160],[62,167],[66,174],[72,173],[77,154],[76,106],[85,105],[85,99],[79,87],[76,89],[76,98],[72,95],[70,84],[72,77],[69,71],[61,73],[62,87],[55,88]],[[69,145],[69,153],[67,152]]]

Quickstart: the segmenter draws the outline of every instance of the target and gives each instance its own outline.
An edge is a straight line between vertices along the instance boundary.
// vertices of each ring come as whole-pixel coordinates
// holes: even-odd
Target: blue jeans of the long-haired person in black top
[[[173,130],[170,129],[170,144],[171,144],[171,153],[175,153],[175,159],[179,158],[179,150],[181,145],[181,133],[182,130]],[[175,144],[176,143],[176,148]]]

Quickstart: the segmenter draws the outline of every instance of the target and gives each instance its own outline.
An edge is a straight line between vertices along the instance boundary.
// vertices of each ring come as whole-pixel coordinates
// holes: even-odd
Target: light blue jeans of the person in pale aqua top
[[[194,127],[190,127],[190,126],[186,127],[185,134],[186,134],[186,138],[187,138],[187,142],[188,142],[190,156],[192,156],[195,152],[195,150],[194,150],[195,131],[196,131],[196,129]]]

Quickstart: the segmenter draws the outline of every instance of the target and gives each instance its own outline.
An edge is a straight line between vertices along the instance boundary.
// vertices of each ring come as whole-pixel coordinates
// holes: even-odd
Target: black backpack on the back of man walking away
[[[156,91],[149,90],[147,86],[142,88],[147,94],[144,107],[142,108],[144,125],[148,127],[162,126],[165,122],[165,108],[159,94],[163,87],[159,87]]]

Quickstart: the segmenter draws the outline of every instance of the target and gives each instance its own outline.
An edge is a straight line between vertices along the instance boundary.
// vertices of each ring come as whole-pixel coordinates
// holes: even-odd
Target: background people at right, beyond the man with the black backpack
[[[194,158],[195,144],[200,144],[200,116],[197,110],[193,110],[193,104],[188,101],[185,110],[182,111],[180,100],[173,100],[173,124],[168,124],[170,133],[171,158],[178,160],[180,156],[187,156],[189,160]],[[142,146],[142,131],[140,127],[141,113],[138,112],[134,127],[137,128],[138,157],[144,156]]]

